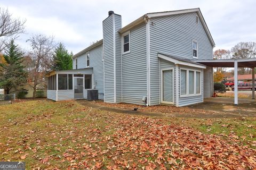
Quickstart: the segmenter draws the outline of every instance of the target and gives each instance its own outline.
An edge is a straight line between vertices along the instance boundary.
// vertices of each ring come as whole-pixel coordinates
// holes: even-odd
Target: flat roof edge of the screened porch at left
[[[92,74],[93,67],[85,68],[85,69],[73,69],[73,70],[60,70],[60,71],[50,71],[45,74],[45,77],[50,77],[54,74]]]

